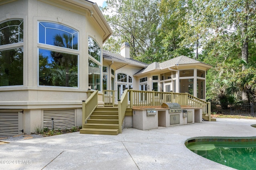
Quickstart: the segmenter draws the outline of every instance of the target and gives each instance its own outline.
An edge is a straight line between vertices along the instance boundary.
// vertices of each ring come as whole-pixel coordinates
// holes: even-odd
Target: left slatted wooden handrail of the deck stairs
[[[94,91],[87,100],[82,100],[82,125],[98,107],[98,90]]]

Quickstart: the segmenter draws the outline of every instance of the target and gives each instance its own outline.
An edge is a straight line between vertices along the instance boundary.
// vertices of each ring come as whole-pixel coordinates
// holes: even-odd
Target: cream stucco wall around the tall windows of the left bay
[[[24,109],[24,133],[34,132],[42,125],[42,109],[74,108],[76,125],[82,124],[82,100],[88,89],[88,36],[102,48],[104,32],[85,8],[64,6],[54,0],[18,0],[0,6],[0,22],[24,20],[23,86],[0,87],[0,109]],[[83,2],[80,2],[83,3]],[[38,48],[58,50],[38,43],[38,21],[51,21],[76,29],[79,33],[78,88],[38,86]],[[73,52],[62,49],[63,52]]]

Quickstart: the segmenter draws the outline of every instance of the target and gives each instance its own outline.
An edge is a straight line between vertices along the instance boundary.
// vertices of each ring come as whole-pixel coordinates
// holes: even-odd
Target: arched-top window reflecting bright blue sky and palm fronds
[[[78,49],[78,31],[51,22],[39,22],[39,43]]]

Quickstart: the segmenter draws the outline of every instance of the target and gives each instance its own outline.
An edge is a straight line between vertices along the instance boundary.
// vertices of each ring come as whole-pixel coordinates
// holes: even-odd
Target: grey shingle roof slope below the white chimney
[[[109,52],[109,51],[106,51],[106,50],[102,50],[102,52],[103,52],[103,58],[123,61],[125,63],[136,65],[136,66],[141,66],[141,67],[148,66],[148,64],[140,62],[140,61],[137,61],[137,60],[134,60],[134,59],[124,58],[120,54],[112,53],[112,52]]]

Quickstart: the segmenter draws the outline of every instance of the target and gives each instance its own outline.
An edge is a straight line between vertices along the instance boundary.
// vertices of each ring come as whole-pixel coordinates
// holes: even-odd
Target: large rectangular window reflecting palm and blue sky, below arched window
[[[78,56],[39,49],[39,85],[78,87]]]

